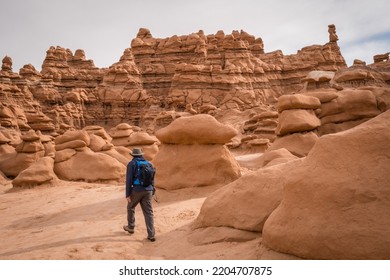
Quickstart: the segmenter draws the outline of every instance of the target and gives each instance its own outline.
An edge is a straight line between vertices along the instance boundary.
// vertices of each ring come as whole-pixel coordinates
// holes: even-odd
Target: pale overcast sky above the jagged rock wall
[[[0,0],[0,59],[11,56],[14,72],[28,63],[41,70],[47,49],[61,46],[108,67],[140,27],[155,38],[242,29],[266,52],[294,54],[328,42],[333,23],[347,64],[372,63],[390,51],[389,11],[388,0]]]

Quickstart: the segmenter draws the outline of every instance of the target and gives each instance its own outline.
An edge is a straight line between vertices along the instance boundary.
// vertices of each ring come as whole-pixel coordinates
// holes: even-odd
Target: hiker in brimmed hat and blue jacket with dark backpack
[[[143,157],[140,148],[134,148],[130,155],[133,159],[127,165],[126,171],[126,199],[127,199],[127,225],[123,229],[130,234],[134,233],[135,207],[141,204],[145,218],[148,239],[154,242],[154,218],[152,197],[154,194],[155,169],[149,161]]]

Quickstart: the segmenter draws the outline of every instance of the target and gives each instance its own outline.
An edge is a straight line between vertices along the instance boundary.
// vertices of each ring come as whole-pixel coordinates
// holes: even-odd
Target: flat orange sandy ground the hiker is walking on
[[[15,190],[0,185],[0,259],[286,259],[261,246],[259,233],[229,228],[193,230],[215,187],[158,190],[156,242],[146,239],[140,207],[133,235],[121,184],[61,181]]]

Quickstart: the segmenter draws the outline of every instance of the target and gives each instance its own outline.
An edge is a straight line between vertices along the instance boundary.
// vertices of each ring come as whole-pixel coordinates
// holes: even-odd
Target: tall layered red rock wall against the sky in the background
[[[337,42],[305,47],[295,55],[264,52],[263,41],[245,31],[203,31],[154,38],[141,28],[108,69],[95,67],[83,50],[50,47],[37,71],[31,64],[0,72],[2,126],[63,133],[86,125],[122,122],[148,126],[168,110],[245,110],[274,103],[302,85],[312,70],[345,68]],[[153,131],[155,128],[150,127]]]

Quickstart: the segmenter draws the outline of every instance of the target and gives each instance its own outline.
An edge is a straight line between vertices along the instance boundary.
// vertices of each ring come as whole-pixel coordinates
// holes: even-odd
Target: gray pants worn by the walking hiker
[[[135,207],[140,203],[145,218],[146,230],[148,231],[148,238],[154,237],[153,191],[132,191],[130,197],[131,202],[127,204],[127,223],[129,228],[134,229],[135,227]]]

